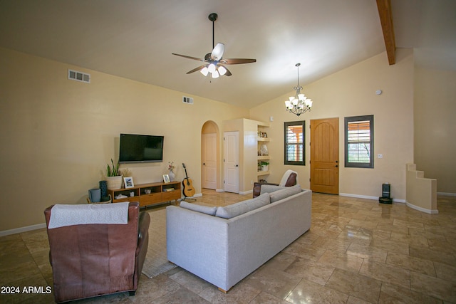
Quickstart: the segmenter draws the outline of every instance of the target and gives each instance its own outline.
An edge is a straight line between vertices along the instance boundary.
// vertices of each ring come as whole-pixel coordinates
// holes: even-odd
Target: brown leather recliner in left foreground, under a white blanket
[[[49,226],[52,207],[45,211]],[[128,205],[128,224],[78,224],[47,229],[57,303],[138,288],[149,243],[150,215]]]

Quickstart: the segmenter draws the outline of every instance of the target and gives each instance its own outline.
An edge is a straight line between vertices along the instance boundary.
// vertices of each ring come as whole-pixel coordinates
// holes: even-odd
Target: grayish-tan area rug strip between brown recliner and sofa
[[[149,211],[149,214],[149,247],[142,273],[148,278],[153,278],[170,271],[176,265],[168,262],[166,256],[166,209]]]

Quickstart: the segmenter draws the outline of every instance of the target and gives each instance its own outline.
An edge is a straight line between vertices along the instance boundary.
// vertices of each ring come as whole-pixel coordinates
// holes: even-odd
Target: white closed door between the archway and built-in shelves
[[[239,132],[224,132],[224,191],[239,193]]]

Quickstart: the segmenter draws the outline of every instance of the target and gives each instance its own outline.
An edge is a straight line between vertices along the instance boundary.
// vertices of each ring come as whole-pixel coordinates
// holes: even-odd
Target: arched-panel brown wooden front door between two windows
[[[311,120],[311,190],[339,193],[339,119]]]

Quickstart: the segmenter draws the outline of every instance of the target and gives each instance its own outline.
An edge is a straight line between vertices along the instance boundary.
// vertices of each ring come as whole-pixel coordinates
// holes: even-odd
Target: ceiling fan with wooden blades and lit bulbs
[[[257,59],[247,59],[247,58],[232,58],[232,59],[224,59],[223,53],[225,46],[223,43],[217,43],[217,46],[214,46],[214,22],[217,20],[217,14],[212,13],[209,14],[208,18],[212,21],[212,53],[207,53],[204,58],[196,58],[192,56],[180,55],[176,53],[172,53],[175,56],[181,56],[184,58],[193,59],[196,61],[204,62],[204,65],[200,65],[193,70],[189,70],[187,74],[194,73],[199,70],[202,75],[207,76],[211,73],[212,78],[218,78],[222,75],[231,76],[232,73],[224,66],[224,64],[242,64],[242,63],[254,63],[257,62]]]

